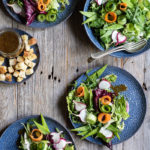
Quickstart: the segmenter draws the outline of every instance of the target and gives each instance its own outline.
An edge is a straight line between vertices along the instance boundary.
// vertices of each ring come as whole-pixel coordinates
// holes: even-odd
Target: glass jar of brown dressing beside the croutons
[[[21,36],[13,29],[0,31],[0,55],[13,58],[20,55],[24,49]]]

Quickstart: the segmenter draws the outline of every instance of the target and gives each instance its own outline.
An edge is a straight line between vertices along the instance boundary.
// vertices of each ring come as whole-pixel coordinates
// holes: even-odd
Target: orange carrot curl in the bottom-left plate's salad
[[[34,134],[36,134],[37,136],[36,138],[34,137]],[[40,142],[43,139],[43,134],[41,133],[39,129],[33,129],[30,134],[30,138],[34,142]]]

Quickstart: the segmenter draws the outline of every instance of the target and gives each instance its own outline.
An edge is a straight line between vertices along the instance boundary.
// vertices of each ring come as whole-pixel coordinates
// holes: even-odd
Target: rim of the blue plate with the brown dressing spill
[[[100,69],[100,68],[103,67],[103,66],[104,66],[104,65],[99,65],[98,67],[94,67],[94,68],[92,68],[92,69],[90,70],[90,72],[93,71],[93,70],[98,70],[98,69]],[[128,75],[130,75],[132,78],[134,78],[135,81],[137,82],[137,84],[139,85],[139,87],[141,88],[141,90],[142,90],[142,92],[143,92],[143,95],[144,95],[144,98],[143,98],[143,99],[145,100],[145,112],[144,112],[144,117],[142,118],[141,124],[140,124],[139,127],[137,128],[136,132],[135,132],[134,134],[132,134],[129,138],[127,138],[127,139],[125,139],[125,140],[123,140],[123,141],[121,141],[121,142],[115,143],[115,144],[113,143],[113,145],[117,145],[117,144],[121,144],[121,143],[123,143],[123,142],[129,140],[129,139],[130,139],[131,137],[133,137],[133,136],[140,130],[140,128],[142,127],[142,125],[143,125],[143,123],[144,123],[144,120],[145,120],[145,117],[146,117],[146,114],[147,114],[147,99],[146,99],[146,96],[145,96],[145,93],[144,93],[144,90],[143,90],[141,84],[139,83],[139,81],[138,81],[131,73],[129,73],[127,70],[122,69],[122,68],[117,67],[117,66],[108,65],[107,67],[119,69],[119,70],[121,70],[121,71],[125,71]],[[90,73],[90,72],[89,72],[89,73]],[[96,72],[96,71],[94,71],[94,72]],[[78,80],[80,80],[80,78],[81,78],[82,76],[85,76],[85,73],[86,73],[86,72],[82,73],[82,74],[81,74],[76,80],[74,80],[74,81],[77,81],[77,82],[78,82]],[[88,74],[89,74],[89,73],[88,73]],[[68,93],[69,93],[69,92],[68,92]],[[69,115],[69,112],[68,112],[68,115]],[[71,116],[69,116],[69,120],[70,120],[70,122],[71,122],[73,128],[75,129],[75,123],[72,122]],[[76,134],[76,136],[78,136],[78,135]],[[90,136],[90,137],[91,137],[91,136]],[[95,138],[92,137],[92,139],[93,139],[94,141],[91,141],[91,140],[89,140],[89,139],[87,139],[87,138],[86,138],[85,140],[88,141],[88,142],[90,142],[90,143],[97,144],[97,145],[104,145],[104,144],[101,142],[101,140],[100,140],[100,143],[97,143],[97,142],[95,142]]]

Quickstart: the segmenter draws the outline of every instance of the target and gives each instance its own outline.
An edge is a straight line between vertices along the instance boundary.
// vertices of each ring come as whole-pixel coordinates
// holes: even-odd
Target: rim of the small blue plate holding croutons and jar
[[[24,34],[27,34],[28,36],[30,36],[30,37],[33,37],[31,34],[29,34],[28,32],[26,32],[26,31],[24,31],[24,30],[21,30],[21,29],[18,29],[18,28],[2,28],[1,30],[3,30],[3,29],[12,29],[12,30],[14,30],[14,31],[17,31],[17,32],[23,32]],[[20,35],[20,33],[18,33],[19,35]],[[34,70],[34,72],[33,72],[33,74],[31,74],[31,75],[29,75],[28,76],[28,78],[25,78],[25,79],[23,79],[21,82],[17,82],[17,81],[15,81],[14,83],[13,82],[8,82],[8,81],[0,81],[0,84],[8,84],[8,85],[17,85],[17,84],[21,84],[21,83],[23,83],[23,82],[26,82],[27,80],[29,80],[34,74],[35,74],[35,72],[37,71],[37,69],[38,69],[38,67],[39,67],[39,64],[40,64],[40,58],[41,58],[41,54],[40,54],[40,49],[39,49],[39,46],[38,46],[38,43],[37,44],[35,44],[36,46],[37,46],[37,52],[38,52],[38,54],[39,54],[39,57],[38,57],[38,62],[36,63],[36,65],[35,65],[35,70]],[[0,55],[1,56],[1,55]]]

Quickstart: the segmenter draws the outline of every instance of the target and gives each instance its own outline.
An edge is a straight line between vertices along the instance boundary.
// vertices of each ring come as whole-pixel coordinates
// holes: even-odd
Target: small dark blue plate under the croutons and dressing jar
[[[32,36],[29,35],[28,33],[26,33],[25,31],[22,31],[22,30],[19,30],[19,29],[14,29],[14,30],[15,30],[16,32],[18,32],[20,35],[26,34],[26,35],[29,36],[29,39],[32,38]],[[40,51],[39,51],[39,47],[38,47],[37,44],[35,44],[35,45],[32,46],[31,48],[34,49],[34,53],[37,55],[37,59],[33,61],[34,63],[36,63],[36,66],[34,67],[34,73],[35,73],[35,71],[36,71],[37,68],[38,68],[39,62],[40,62]],[[23,55],[23,53],[20,54],[20,56],[21,56],[21,55]],[[9,65],[9,60],[8,60],[7,58],[5,58],[5,62],[4,62],[3,65],[8,67],[8,65]],[[33,73],[33,74],[34,74],[34,73]],[[6,83],[6,84],[18,84],[18,83],[22,83],[22,82],[26,81],[26,80],[29,79],[33,74],[31,74],[31,75],[29,75],[29,76],[26,76],[26,78],[25,78],[23,81],[21,81],[21,82],[17,82],[17,79],[16,79],[15,77],[13,77],[13,76],[12,76],[12,81],[11,81],[11,82],[8,82],[8,81],[0,81],[0,82],[1,82],[1,83]]]

